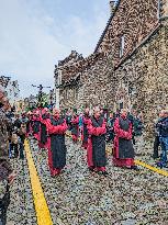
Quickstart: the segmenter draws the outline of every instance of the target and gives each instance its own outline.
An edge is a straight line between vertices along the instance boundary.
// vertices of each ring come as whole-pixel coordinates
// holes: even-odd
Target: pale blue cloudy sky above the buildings
[[[90,55],[110,16],[109,0],[0,0],[0,74],[54,86],[54,65],[72,49]]]

